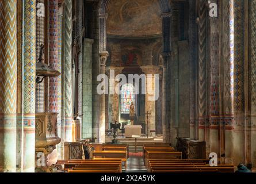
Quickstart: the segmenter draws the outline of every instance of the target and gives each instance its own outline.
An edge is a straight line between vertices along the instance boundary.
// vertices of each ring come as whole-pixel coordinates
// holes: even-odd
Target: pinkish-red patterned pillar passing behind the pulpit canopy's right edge
[[[58,59],[58,0],[48,1],[49,7],[49,67],[61,71],[61,63]],[[49,78],[49,106],[48,112],[60,114],[59,88],[61,87],[59,77]],[[57,124],[60,121],[57,120]],[[57,135],[58,136],[58,133]],[[48,160],[57,162],[58,154],[55,149],[48,155]]]

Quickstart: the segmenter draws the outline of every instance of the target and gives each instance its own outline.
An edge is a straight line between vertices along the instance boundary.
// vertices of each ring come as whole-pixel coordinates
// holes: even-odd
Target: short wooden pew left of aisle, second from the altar
[[[121,159],[125,164],[125,170],[127,170],[127,151],[93,151],[93,159]]]

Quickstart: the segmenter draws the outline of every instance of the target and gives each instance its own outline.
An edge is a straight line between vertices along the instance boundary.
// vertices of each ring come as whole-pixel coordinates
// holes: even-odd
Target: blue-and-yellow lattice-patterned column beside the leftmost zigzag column
[[[24,87],[22,172],[35,172],[36,0],[24,1]]]

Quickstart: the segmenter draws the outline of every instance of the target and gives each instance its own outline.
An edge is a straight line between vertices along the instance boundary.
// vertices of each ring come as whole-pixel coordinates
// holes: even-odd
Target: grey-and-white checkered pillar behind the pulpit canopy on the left
[[[36,0],[36,4],[43,3],[44,0]],[[45,9],[45,7],[44,7]],[[45,44],[45,16],[36,16],[36,62],[39,62],[41,44]],[[44,45],[44,51],[45,51]],[[44,52],[45,53],[45,52]],[[44,112],[44,82],[36,83],[36,113]]]

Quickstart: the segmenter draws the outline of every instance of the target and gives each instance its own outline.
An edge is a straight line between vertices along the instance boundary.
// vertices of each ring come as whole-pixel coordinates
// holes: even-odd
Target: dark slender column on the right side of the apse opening
[[[163,85],[162,85],[162,121],[163,142],[170,142],[170,62],[171,62],[171,12],[162,13],[163,34]]]

